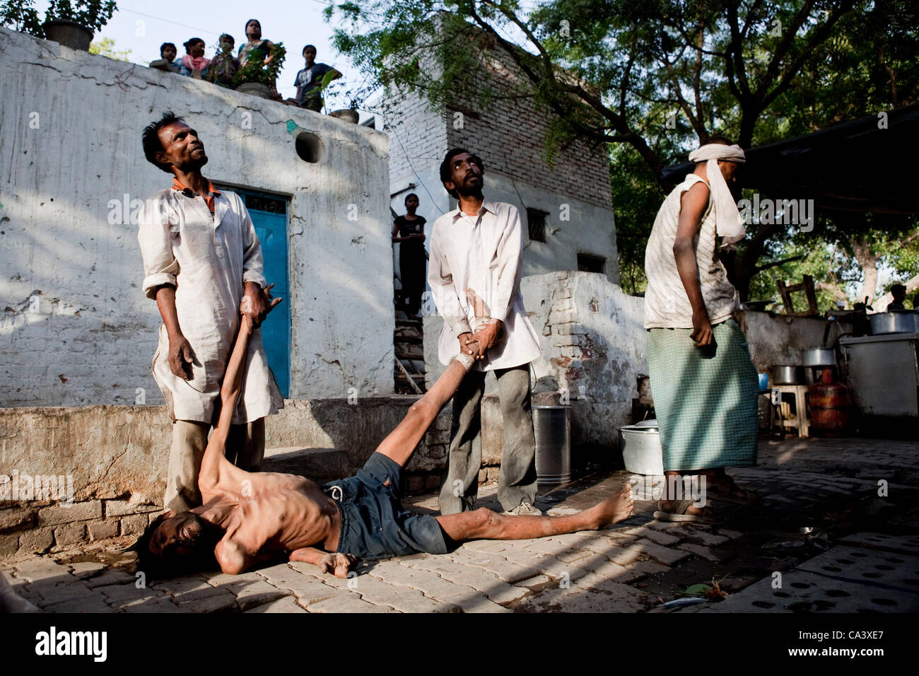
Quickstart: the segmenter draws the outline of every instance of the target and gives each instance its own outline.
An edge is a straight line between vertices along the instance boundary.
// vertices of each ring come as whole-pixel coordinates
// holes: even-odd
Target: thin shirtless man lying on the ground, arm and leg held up
[[[252,328],[252,319],[243,315],[221,386],[220,421],[201,462],[203,505],[177,514],[166,511],[135,545],[138,567],[148,576],[203,569],[215,556],[224,573],[236,574],[283,554],[346,578],[357,558],[445,554],[466,540],[524,540],[596,530],[631,514],[629,485],[589,510],[566,516],[508,516],[482,508],[434,517],[403,510],[403,467],[469,372],[471,354],[459,354],[450,363],[357,476],[319,487],[298,475],[246,472],[227,461],[223,450]]]

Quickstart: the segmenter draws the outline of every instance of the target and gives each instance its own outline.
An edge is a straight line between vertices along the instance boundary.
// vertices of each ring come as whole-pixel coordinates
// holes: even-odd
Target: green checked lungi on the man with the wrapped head
[[[691,328],[648,329],[651,395],[664,471],[756,463],[758,385],[743,331],[733,319],[697,348]]]

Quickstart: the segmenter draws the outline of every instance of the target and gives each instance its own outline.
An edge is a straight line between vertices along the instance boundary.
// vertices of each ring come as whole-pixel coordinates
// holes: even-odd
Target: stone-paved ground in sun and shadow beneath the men
[[[473,542],[444,556],[364,563],[350,579],[278,563],[244,575],[213,572],[142,586],[130,561],[115,554],[124,546],[115,541],[0,560],[0,570],[22,597],[51,613],[919,608],[919,443],[762,441],[760,464],[732,474],[764,499],[759,507],[721,503],[721,527],[654,521],[654,503],[641,499],[629,521],[604,531]],[[584,509],[628,480],[625,472],[595,472],[540,496],[538,505],[550,513]],[[639,484],[638,497],[649,497],[649,489]],[[482,504],[496,507],[494,492],[494,486],[482,487]],[[436,508],[433,496],[409,503],[423,513]],[[687,588],[702,584],[707,589],[695,591],[704,602],[664,605],[689,598]]]

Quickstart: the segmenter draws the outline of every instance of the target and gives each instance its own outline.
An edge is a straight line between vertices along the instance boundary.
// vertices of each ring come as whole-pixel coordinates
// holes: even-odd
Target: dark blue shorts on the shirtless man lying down
[[[402,467],[382,453],[373,453],[356,476],[323,486],[338,501],[341,511],[341,554],[372,560],[419,552],[447,553],[447,541],[437,519],[403,510],[399,501],[402,483]],[[338,487],[340,494],[333,487]]]

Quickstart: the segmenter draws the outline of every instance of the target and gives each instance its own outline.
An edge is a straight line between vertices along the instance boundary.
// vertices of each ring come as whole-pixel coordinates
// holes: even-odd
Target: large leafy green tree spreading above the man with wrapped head
[[[643,242],[674,186],[664,166],[685,161],[713,133],[750,147],[913,101],[919,51],[911,7],[552,0],[528,12],[517,0],[352,0],[329,7],[327,17],[344,21],[336,47],[368,75],[369,88],[422,91],[434,107],[459,91],[488,102],[498,87],[480,56],[504,50],[524,75],[519,96],[554,113],[549,158],[573,139],[609,144],[620,270],[637,291]],[[843,232],[828,241],[842,244]],[[777,267],[760,260],[785,235],[775,223],[748,233],[725,259],[743,297],[755,275]]]

